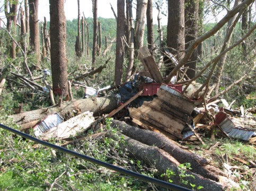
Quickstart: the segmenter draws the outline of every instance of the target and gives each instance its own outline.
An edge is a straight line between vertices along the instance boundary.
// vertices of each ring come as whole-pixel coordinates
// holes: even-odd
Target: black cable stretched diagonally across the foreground
[[[68,150],[66,148],[63,148],[63,147],[51,144],[49,142],[40,140],[38,138],[32,137],[32,136],[30,136],[30,135],[28,135],[28,134],[26,134],[24,132],[15,130],[15,129],[11,128],[11,127],[7,127],[7,126],[5,126],[5,125],[3,125],[1,123],[0,123],[0,127],[5,129],[5,130],[7,130],[7,131],[11,131],[11,132],[15,133],[16,135],[19,135],[21,137],[29,139],[29,140],[31,140],[33,142],[37,142],[40,145],[44,145],[46,147],[50,147],[50,148],[59,150],[61,152],[64,152],[64,153],[66,153],[68,155],[72,155],[74,157],[90,161],[93,164],[100,165],[100,166],[103,166],[105,168],[117,171],[118,173],[122,173],[122,174],[125,174],[125,175],[128,175],[128,176],[140,179],[143,182],[152,183],[152,184],[155,184],[155,185],[158,185],[158,186],[162,186],[164,188],[169,188],[171,190],[177,190],[177,191],[178,190],[191,190],[191,189],[184,188],[184,187],[181,187],[181,186],[178,186],[178,185],[175,185],[175,184],[167,183],[167,182],[165,182],[163,180],[159,180],[159,179],[148,177],[148,176],[145,176],[145,175],[142,175],[142,174],[139,174],[139,173],[135,173],[134,171],[126,170],[124,168],[120,168],[118,166],[114,166],[114,165],[111,165],[109,163],[105,163],[105,162],[103,162],[101,160],[98,160],[98,159],[95,159],[95,158],[92,158],[92,157],[89,157],[89,156],[86,156],[86,155],[79,154],[79,153],[74,152],[72,150]]]

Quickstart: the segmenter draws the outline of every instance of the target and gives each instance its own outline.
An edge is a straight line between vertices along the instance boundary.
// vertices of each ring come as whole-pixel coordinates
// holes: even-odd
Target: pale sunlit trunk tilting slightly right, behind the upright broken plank
[[[135,41],[134,47],[136,55],[138,50],[143,46],[145,22],[146,22],[147,0],[137,1],[136,9],[136,29],[135,29]]]

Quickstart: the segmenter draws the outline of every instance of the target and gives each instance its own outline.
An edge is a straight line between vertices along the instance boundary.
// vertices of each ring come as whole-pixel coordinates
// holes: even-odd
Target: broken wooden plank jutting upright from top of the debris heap
[[[150,73],[153,80],[155,80],[157,83],[163,83],[163,77],[160,73],[160,71],[157,68],[157,65],[149,52],[147,46],[140,47],[139,49],[140,57],[142,58],[142,63],[144,65],[144,68],[146,71]]]

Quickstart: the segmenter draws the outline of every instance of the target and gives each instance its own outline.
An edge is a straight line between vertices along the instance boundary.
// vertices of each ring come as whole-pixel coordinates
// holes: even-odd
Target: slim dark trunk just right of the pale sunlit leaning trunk
[[[153,4],[152,0],[148,0],[147,2],[147,47],[151,55],[153,55],[153,47],[154,47],[154,24],[153,24]]]

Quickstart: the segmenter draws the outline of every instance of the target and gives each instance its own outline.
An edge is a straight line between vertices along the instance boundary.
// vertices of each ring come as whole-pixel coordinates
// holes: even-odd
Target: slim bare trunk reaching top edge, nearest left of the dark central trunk
[[[98,36],[98,0],[93,0],[93,47],[92,47],[92,70],[95,69],[97,36]]]

